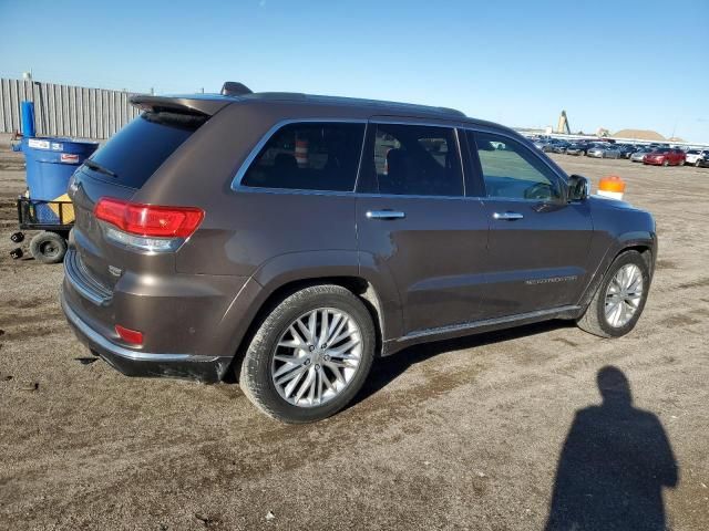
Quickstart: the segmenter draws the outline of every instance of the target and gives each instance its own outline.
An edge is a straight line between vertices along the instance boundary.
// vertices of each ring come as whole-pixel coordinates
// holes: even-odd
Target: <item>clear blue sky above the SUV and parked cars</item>
[[[709,0],[0,0],[0,76],[157,94],[240,81],[513,127],[709,143]]]

